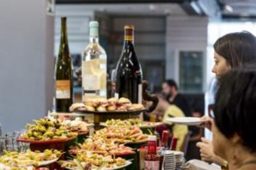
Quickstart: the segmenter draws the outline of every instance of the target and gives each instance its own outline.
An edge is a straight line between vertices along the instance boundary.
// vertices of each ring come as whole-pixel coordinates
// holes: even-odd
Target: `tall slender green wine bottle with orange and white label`
[[[61,43],[55,63],[56,112],[67,113],[73,103],[73,65],[67,41],[67,18],[61,17]]]

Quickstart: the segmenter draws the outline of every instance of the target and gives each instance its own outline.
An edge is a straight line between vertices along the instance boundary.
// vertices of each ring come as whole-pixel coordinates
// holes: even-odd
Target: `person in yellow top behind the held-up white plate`
[[[184,138],[186,137],[188,128],[186,125],[172,124],[166,121],[168,117],[185,117],[184,113],[177,106],[173,104],[169,104],[166,100],[158,96],[159,102],[153,113],[160,113],[163,115],[163,122],[171,126],[171,131],[173,132],[173,136],[177,137],[177,146],[176,150],[182,150],[182,144],[184,142]]]

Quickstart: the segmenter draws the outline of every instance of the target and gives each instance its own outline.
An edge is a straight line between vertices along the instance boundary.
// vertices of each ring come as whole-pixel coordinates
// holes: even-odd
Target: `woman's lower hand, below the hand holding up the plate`
[[[206,138],[201,138],[201,140],[202,142],[197,142],[197,147],[200,148],[200,156],[202,160],[208,163],[216,163],[221,166],[224,163],[224,159],[215,155],[213,144]]]

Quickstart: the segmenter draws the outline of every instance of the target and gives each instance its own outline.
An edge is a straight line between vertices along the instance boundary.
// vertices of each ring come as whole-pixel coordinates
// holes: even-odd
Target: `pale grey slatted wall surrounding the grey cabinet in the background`
[[[179,82],[179,51],[203,51],[203,82],[207,74],[207,17],[167,17],[166,21],[166,78]],[[203,90],[206,83],[203,84]]]

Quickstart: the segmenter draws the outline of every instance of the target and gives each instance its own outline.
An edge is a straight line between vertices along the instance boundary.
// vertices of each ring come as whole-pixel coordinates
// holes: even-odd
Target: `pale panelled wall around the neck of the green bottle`
[[[67,34],[69,51],[72,54],[82,54],[89,43],[89,22],[94,19],[94,12],[83,9],[83,6],[57,5],[55,17],[54,55],[59,53],[61,32],[61,17],[67,17]]]

